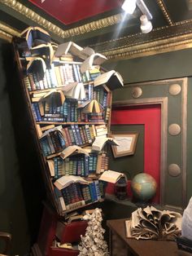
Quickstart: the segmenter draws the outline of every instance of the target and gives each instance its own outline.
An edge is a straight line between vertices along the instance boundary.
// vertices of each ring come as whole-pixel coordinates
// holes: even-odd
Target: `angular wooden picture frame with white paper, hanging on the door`
[[[137,145],[137,132],[112,132],[111,137],[116,139],[116,141],[120,144],[119,146],[111,146],[113,156],[116,157],[125,157],[129,155],[133,155],[135,152],[135,148]]]

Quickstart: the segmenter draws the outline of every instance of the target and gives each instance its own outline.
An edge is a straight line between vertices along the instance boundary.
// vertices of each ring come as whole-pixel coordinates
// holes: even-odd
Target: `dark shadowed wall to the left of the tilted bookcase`
[[[37,240],[44,187],[20,91],[11,44],[0,39],[0,232],[11,232],[11,255]]]

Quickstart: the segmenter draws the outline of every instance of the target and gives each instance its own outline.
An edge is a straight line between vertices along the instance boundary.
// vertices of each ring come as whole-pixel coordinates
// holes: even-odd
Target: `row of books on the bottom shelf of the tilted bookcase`
[[[72,183],[62,190],[55,188],[55,196],[58,197],[62,210],[73,210],[101,200],[104,196],[103,186],[103,182],[98,180],[89,184]]]

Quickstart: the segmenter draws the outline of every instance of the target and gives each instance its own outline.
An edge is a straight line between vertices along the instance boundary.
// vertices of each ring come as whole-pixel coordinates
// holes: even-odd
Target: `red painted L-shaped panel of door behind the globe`
[[[159,104],[113,109],[111,125],[144,125],[144,172],[151,174],[158,190],[154,202],[160,196],[160,141],[161,108]]]

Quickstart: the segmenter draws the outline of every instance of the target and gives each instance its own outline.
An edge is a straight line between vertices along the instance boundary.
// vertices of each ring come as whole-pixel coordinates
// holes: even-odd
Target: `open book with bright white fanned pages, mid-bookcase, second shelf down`
[[[82,82],[70,82],[62,88],[64,95],[72,99],[85,99],[85,87]]]

